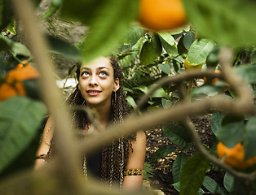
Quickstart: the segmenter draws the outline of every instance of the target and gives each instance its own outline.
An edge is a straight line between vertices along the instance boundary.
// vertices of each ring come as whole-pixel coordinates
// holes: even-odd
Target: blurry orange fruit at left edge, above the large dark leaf
[[[27,60],[22,63],[27,63]],[[0,102],[15,95],[25,96],[26,91],[22,81],[39,77],[37,69],[30,64],[24,65],[22,63],[17,64],[15,69],[5,76],[5,82],[0,85]]]

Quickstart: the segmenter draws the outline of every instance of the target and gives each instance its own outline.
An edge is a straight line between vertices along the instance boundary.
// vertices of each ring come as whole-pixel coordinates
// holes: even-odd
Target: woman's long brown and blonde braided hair
[[[113,66],[114,80],[119,79],[119,89],[116,94],[112,93],[111,112],[109,123],[121,123],[130,112],[130,107],[127,105],[125,92],[122,87],[123,73],[117,58],[111,56],[110,62]],[[80,76],[81,63],[77,64],[77,80]],[[71,106],[86,106],[86,101],[82,98],[82,94],[78,89],[74,89],[73,93],[68,97],[68,104]],[[90,124],[90,119],[85,111],[73,111],[73,125],[78,129],[85,129]],[[129,155],[129,148],[132,149],[131,141],[135,139],[135,135],[131,137],[121,137],[118,141],[113,141],[110,145],[104,145],[102,150],[101,164],[101,180],[106,183],[119,183],[120,187],[123,181],[123,171],[126,167]]]

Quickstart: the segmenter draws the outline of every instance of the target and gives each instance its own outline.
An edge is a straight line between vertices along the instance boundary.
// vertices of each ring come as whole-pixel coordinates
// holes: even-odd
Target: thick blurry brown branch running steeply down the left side
[[[48,111],[51,112],[55,123],[55,134],[58,138],[56,147],[60,154],[60,168],[63,178],[69,184],[77,184],[78,170],[76,150],[71,133],[71,125],[68,119],[68,111],[64,109],[63,101],[59,91],[55,86],[55,79],[51,70],[51,62],[47,55],[46,40],[40,31],[38,22],[34,17],[33,5],[29,0],[11,0],[15,14],[20,18],[24,36],[29,49],[33,54],[34,62],[41,72],[40,84],[42,98],[44,99]]]

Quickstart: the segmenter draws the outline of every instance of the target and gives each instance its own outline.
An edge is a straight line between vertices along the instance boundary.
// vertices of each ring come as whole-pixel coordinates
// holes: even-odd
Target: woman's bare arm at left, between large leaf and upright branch
[[[47,120],[46,126],[42,132],[42,140],[38,147],[37,152],[37,159],[34,164],[34,169],[38,169],[42,167],[44,164],[46,164],[46,161],[44,158],[38,158],[41,155],[46,155],[49,151],[50,144],[51,144],[51,138],[53,135],[53,124],[51,117]]]

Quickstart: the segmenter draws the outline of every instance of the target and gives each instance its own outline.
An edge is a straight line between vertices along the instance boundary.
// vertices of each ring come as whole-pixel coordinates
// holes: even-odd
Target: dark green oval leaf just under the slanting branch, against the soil
[[[163,133],[171,142],[180,147],[186,147],[191,142],[188,132],[180,124],[163,125]]]

